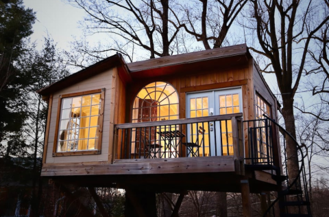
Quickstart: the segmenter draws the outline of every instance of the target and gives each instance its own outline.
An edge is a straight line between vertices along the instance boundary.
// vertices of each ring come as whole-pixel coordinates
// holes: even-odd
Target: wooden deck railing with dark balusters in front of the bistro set
[[[244,156],[242,113],[117,124],[114,130],[115,159]]]

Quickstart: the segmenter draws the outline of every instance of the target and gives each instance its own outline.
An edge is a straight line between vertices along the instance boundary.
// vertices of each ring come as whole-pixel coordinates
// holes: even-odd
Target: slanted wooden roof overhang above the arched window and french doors
[[[132,80],[223,69],[244,65],[250,57],[247,45],[234,45],[188,54],[128,63]]]

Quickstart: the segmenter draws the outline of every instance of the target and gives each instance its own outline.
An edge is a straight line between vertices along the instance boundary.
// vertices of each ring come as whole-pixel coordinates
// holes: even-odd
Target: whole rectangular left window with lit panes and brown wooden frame
[[[102,89],[62,95],[54,155],[97,153],[101,145]]]

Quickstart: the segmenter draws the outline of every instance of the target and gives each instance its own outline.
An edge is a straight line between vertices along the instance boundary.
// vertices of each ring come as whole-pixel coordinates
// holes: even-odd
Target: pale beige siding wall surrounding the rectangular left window
[[[53,93],[52,105],[51,105],[51,115],[49,121],[49,135],[46,139],[47,141],[47,155],[45,163],[76,163],[76,162],[92,162],[92,161],[108,161],[108,146],[110,143],[109,131],[110,131],[110,102],[112,93],[112,73],[113,69],[109,69],[102,73],[88,78],[88,80],[83,80],[71,87],[67,87]],[[81,91],[90,91],[93,89],[105,88],[105,102],[104,102],[104,115],[103,115],[103,134],[102,134],[102,144],[101,144],[101,154],[100,155],[80,155],[80,156],[64,156],[64,157],[53,157],[53,141],[54,135],[56,133],[56,120],[58,119],[58,98],[60,95],[75,93]]]

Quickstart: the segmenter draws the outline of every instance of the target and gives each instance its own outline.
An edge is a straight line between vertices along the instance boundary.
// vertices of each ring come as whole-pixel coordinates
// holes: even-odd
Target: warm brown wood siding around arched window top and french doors
[[[169,82],[178,92],[180,102],[180,118],[186,117],[186,93],[193,93],[197,91],[204,91],[206,89],[221,89],[228,87],[242,87],[243,94],[250,91],[249,83],[252,82],[250,78],[252,71],[249,70],[248,65],[231,67],[230,69],[221,69],[218,67],[212,71],[199,71],[198,73],[189,74],[186,76],[170,76],[170,77],[158,77],[152,79],[135,80],[133,84],[127,89],[127,104],[126,113],[129,114],[129,118],[126,122],[130,122],[132,118],[132,102],[138,91],[140,91],[145,85],[155,82]],[[243,98],[245,96],[243,95]],[[247,102],[243,100],[243,114],[247,114],[249,108]]]

